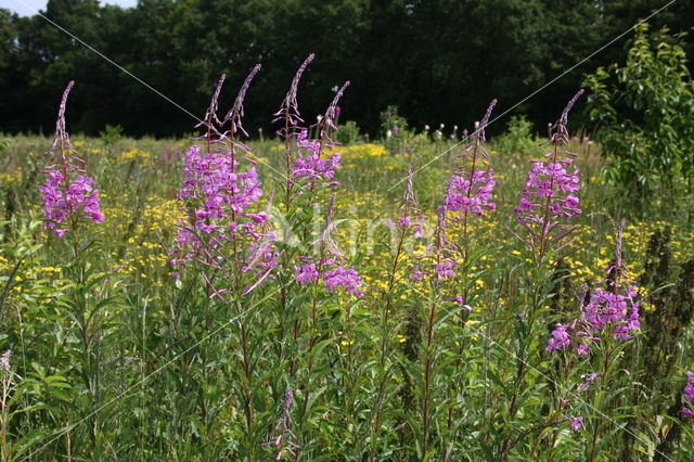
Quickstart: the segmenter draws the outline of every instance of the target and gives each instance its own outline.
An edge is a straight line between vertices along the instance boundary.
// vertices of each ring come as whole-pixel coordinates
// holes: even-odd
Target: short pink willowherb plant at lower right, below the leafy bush
[[[617,419],[624,419],[611,415],[629,386],[622,362],[634,352],[627,347],[641,328],[639,298],[643,294],[629,279],[624,262],[624,229],[625,220],[617,229],[615,258],[607,268],[607,278],[594,284],[590,293],[583,287],[576,318],[557,323],[545,347],[553,355],[563,352],[557,359],[561,365],[556,370],[557,387],[552,388],[555,395],[550,419],[574,414],[565,415],[571,427],[586,427],[587,460],[597,458],[601,439],[618,425]],[[584,413],[580,425],[576,424],[576,413]],[[554,431],[548,444],[553,445],[556,437]]]

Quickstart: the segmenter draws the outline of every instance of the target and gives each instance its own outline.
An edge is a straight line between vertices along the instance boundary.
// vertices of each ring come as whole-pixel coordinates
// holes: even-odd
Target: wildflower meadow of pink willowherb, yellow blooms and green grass
[[[319,60],[274,133],[257,65],[188,138],[70,134],[69,81],[4,139],[2,460],[692,460],[691,177],[611,181],[569,129],[607,77],[543,136],[492,100],[368,139],[349,81],[301,112]]]

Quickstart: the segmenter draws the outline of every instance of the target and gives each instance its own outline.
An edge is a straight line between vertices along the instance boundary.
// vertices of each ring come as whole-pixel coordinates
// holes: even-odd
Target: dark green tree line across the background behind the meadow
[[[44,17],[0,9],[0,131],[51,132],[56,101],[70,79],[77,82],[68,110],[73,131],[97,134],[107,124],[131,136],[193,131],[196,120],[190,114],[80,41],[198,117],[221,73],[228,75],[220,98],[226,110],[244,76],[260,63],[245,120],[266,133],[293,74],[311,52],[317,57],[299,88],[308,123],[324,110],[334,88],[349,79],[342,117],[362,131],[376,134],[380,113],[388,105],[398,106],[420,129],[439,124],[472,128],[491,99],[499,99],[500,112],[510,107],[666,3],[140,0],[121,9],[97,0],[49,0],[40,12]],[[694,0],[677,1],[651,24],[691,30]],[[518,111],[537,127],[547,125],[586,73],[624,61],[631,37]],[[692,43],[687,38],[690,56]]]

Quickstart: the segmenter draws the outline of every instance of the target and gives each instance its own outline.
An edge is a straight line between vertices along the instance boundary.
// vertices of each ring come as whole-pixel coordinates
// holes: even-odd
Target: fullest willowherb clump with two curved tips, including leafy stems
[[[267,329],[258,318],[265,308],[258,300],[278,292],[264,283],[278,278],[274,272],[282,270],[279,262],[282,251],[277,245],[270,214],[267,206],[259,203],[264,191],[256,162],[240,140],[245,133],[244,99],[259,69],[257,65],[250,70],[223,119],[218,118],[217,110],[224,76],[219,79],[202,123],[206,128],[201,138],[205,144],[191,146],[187,154],[178,196],[184,203],[187,216],[179,221],[177,248],[172,251],[172,264],[185,264],[190,267],[187,272],[192,272],[193,279],[200,278],[205,287],[206,299],[198,301],[204,313],[203,330],[197,335],[204,338],[224,316],[235,320],[232,345],[237,352],[203,347],[200,355],[203,363],[221,361],[230,365],[224,368],[223,375],[240,397],[243,424],[235,426],[242,441],[240,450],[250,459],[259,457],[266,436],[258,428],[268,427],[270,419],[269,397],[257,385],[264,374],[258,370],[261,359],[257,356],[254,332]],[[224,124],[229,124],[228,130]],[[197,315],[189,316],[195,319]],[[231,360],[220,356],[230,352]],[[205,372],[197,386],[221,390],[217,383],[211,373]],[[218,425],[221,399],[220,394],[203,396],[201,400],[202,414],[209,428]],[[216,411],[211,412],[210,408]]]

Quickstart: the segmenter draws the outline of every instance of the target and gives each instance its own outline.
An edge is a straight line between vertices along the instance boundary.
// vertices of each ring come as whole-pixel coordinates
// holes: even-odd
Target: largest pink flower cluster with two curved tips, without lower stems
[[[240,155],[247,146],[234,138],[237,132],[245,134],[241,121],[243,99],[258,70],[259,66],[254,67],[246,77],[234,106],[223,120],[216,115],[224,76],[219,79],[201,124],[207,127],[207,133],[203,136],[206,145],[192,145],[185,153],[178,194],[178,200],[184,204],[185,217],[179,220],[176,248],[171,251],[174,266],[194,260],[222,273],[228,272],[224,268],[227,259],[233,259],[239,265],[234,270],[257,277],[245,287],[244,294],[272,278],[280,256],[274,245],[277,236],[269,232],[268,213],[249,209],[264,192],[255,166],[241,163],[245,159],[255,164]],[[231,125],[230,131],[216,126],[226,123]],[[229,253],[233,255],[229,256]]]

